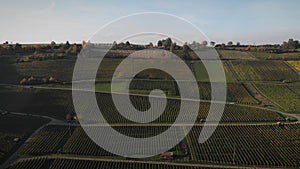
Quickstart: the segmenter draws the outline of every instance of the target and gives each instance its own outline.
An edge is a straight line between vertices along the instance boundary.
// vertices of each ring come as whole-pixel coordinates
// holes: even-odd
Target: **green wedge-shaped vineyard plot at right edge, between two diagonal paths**
[[[256,84],[256,88],[273,103],[291,113],[300,112],[300,95],[287,85]]]

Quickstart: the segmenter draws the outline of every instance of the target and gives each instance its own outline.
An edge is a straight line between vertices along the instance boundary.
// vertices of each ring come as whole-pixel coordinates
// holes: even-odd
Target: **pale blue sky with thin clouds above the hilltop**
[[[0,4],[0,43],[81,42],[107,23],[141,12],[184,18],[217,43],[300,39],[299,0],[0,0]]]

